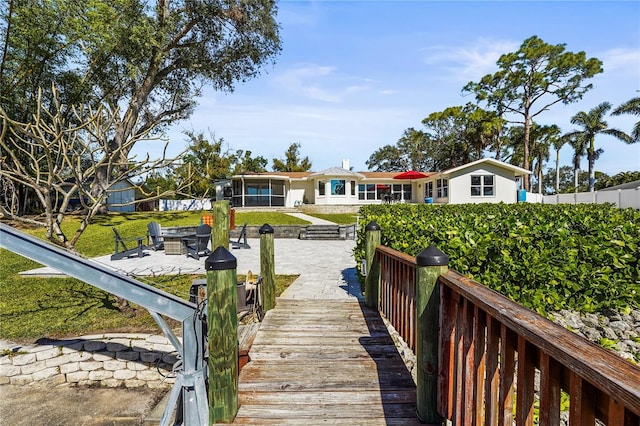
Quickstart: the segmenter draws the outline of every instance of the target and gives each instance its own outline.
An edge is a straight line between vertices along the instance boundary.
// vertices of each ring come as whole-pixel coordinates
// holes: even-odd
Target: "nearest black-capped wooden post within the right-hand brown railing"
[[[442,424],[438,414],[438,277],[449,269],[449,258],[435,246],[416,257],[416,406],[423,423]]]

